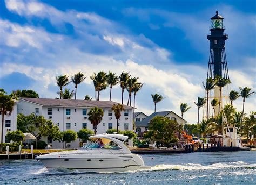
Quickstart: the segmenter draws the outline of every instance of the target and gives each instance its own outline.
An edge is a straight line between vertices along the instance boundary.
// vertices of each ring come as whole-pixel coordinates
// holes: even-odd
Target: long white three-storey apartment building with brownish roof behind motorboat
[[[91,122],[88,120],[87,113],[91,108],[97,106],[102,108],[104,116],[102,122],[97,126],[97,134],[102,134],[107,129],[115,129],[117,120],[114,112],[111,110],[112,101],[86,101],[75,99],[48,99],[48,98],[19,98],[17,113],[23,113],[27,116],[34,112],[38,116],[44,116],[45,119],[51,120],[58,125],[60,131],[68,129],[78,132],[80,129],[93,130]],[[124,105],[125,111],[119,119],[120,130],[132,130],[132,110],[131,106]],[[53,148],[64,147],[63,143],[53,141],[51,138],[42,138]],[[71,142],[70,148],[79,147],[79,140]]]

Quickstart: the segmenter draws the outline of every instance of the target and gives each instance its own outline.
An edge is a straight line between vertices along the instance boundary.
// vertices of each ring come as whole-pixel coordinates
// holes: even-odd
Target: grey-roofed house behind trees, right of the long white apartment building
[[[135,122],[136,133],[139,136],[141,136],[143,132],[149,130],[149,123],[151,119],[153,119],[156,116],[163,116],[165,118],[170,118],[171,120],[175,120],[178,123],[183,124],[183,129],[184,129],[185,119],[181,118],[173,111],[161,111],[161,112],[154,112],[150,116],[147,116],[146,118],[144,118],[143,120]]]

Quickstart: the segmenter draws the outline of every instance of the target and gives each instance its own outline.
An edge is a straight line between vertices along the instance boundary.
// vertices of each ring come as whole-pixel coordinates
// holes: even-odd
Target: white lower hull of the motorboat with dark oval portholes
[[[150,169],[144,166],[139,155],[130,156],[87,156],[83,158],[42,158],[44,166],[49,170],[66,168],[78,170],[79,172],[125,172],[129,170]]]

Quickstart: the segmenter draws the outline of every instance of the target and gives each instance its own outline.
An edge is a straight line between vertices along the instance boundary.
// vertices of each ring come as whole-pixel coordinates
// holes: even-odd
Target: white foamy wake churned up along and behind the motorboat
[[[67,168],[56,168],[52,171],[48,171],[46,168],[38,170],[36,174],[45,174],[45,175],[65,175],[65,174],[80,174],[80,173],[98,173],[98,174],[117,174],[117,173],[137,173],[137,172],[152,172],[152,171],[165,171],[165,170],[211,170],[211,169],[225,169],[225,168],[246,168],[246,169],[256,169],[256,164],[248,164],[242,161],[238,162],[228,162],[228,163],[214,163],[212,165],[201,165],[198,163],[186,163],[184,165],[156,165],[152,166],[151,169],[140,169],[134,171],[126,172],[79,172],[79,170],[72,170]]]

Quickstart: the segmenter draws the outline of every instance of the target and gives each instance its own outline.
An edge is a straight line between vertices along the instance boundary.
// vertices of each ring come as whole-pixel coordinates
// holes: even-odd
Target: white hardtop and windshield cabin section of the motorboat
[[[128,137],[122,134],[99,134],[90,136],[89,139],[91,143],[84,145],[80,149],[109,149],[131,153],[129,148],[124,144],[124,141],[126,141]]]

